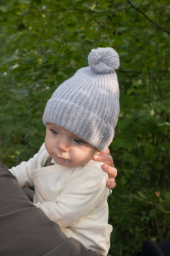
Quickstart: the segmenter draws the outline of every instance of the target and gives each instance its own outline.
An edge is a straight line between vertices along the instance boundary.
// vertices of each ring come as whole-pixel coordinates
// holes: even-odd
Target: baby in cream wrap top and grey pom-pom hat
[[[114,71],[119,58],[110,47],[98,48],[88,62],[48,100],[43,115],[46,137],[39,152],[10,171],[22,188],[35,186],[33,203],[68,237],[105,256],[112,231],[108,175],[92,158],[114,137],[120,110]]]

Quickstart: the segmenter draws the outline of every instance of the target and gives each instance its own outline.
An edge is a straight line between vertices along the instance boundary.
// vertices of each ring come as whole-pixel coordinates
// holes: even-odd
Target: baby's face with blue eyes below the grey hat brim
[[[83,166],[99,151],[73,133],[58,125],[46,125],[45,146],[48,154],[59,165]]]

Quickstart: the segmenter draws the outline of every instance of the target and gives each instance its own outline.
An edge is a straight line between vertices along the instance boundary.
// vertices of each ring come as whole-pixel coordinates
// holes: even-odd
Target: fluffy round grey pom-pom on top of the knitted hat
[[[97,74],[112,73],[118,69],[119,56],[111,47],[92,49],[88,55],[88,64]]]

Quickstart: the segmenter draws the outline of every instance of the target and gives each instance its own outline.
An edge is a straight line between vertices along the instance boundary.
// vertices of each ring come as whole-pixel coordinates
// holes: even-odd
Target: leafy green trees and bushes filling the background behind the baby
[[[0,156],[28,160],[44,140],[42,114],[56,87],[96,47],[120,54],[120,118],[110,153],[110,254],[170,236],[169,1],[1,0]]]

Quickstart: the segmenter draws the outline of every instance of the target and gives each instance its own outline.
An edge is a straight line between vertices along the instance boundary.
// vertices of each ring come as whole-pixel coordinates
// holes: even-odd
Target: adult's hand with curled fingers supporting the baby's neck
[[[96,154],[93,157],[93,160],[95,161],[103,161],[102,169],[105,171],[108,176],[109,180],[107,181],[107,187],[112,189],[115,188],[116,182],[115,182],[115,177],[117,175],[117,170],[114,168],[114,163],[112,160],[112,156],[110,156],[110,150],[107,148],[105,151],[100,152],[100,154]]]

